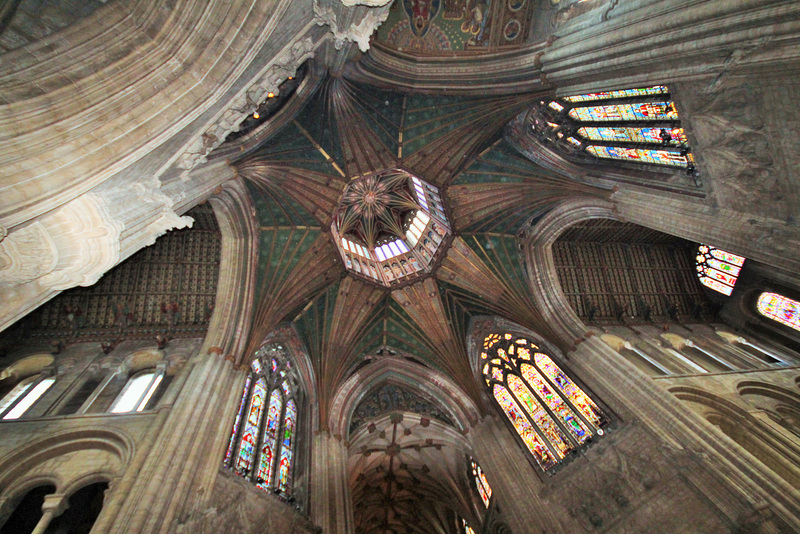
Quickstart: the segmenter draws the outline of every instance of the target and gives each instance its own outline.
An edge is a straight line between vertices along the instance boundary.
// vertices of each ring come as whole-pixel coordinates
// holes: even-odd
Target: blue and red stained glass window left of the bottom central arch
[[[291,494],[298,397],[281,345],[256,352],[245,379],[224,464],[263,490]]]

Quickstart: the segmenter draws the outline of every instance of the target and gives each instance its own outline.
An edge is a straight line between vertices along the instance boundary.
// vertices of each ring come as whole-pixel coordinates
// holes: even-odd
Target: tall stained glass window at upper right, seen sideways
[[[535,135],[568,155],[694,171],[678,110],[665,85],[568,96],[540,102]]]

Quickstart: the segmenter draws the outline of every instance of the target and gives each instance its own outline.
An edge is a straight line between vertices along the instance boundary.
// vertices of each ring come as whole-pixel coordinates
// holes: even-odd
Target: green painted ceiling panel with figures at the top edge
[[[525,43],[533,0],[395,0],[376,40],[409,54]]]

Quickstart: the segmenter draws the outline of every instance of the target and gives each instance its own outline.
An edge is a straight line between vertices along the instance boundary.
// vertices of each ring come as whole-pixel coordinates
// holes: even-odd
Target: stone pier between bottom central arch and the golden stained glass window
[[[511,432],[504,421],[489,415],[468,436],[472,439],[475,459],[492,487],[492,498],[514,533],[564,532],[539,498],[544,484],[528,460],[528,452]]]

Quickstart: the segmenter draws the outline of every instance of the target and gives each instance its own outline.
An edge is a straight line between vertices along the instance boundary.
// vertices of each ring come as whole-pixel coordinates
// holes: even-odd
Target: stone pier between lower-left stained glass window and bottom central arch
[[[325,534],[351,534],[347,447],[341,438],[322,431],[314,436],[311,448],[311,519]]]

